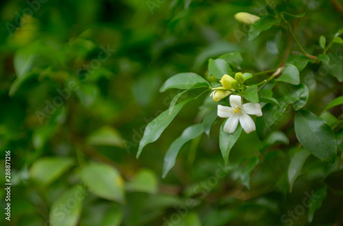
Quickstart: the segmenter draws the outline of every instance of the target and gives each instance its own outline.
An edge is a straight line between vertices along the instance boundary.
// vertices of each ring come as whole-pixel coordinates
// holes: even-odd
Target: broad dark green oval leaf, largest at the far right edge
[[[296,137],[313,155],[335,162],[337,145],[333,131],[322,118],[312,112],[300,110],[294,119]]]

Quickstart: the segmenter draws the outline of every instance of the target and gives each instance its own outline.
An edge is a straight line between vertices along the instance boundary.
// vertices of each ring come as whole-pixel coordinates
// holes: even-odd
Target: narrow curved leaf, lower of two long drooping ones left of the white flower
[[[167,153],[165,154],[165,160],[163,164],[163,175],[162,177],[165,178],[167,173],[170,169],[174,166],[176,162],[176,157],[183,145],[189,140],[193,140],[200,136],[204,132],[204,127],[202,124],[191,125],[187,127],[179,136],[171,143]]]

